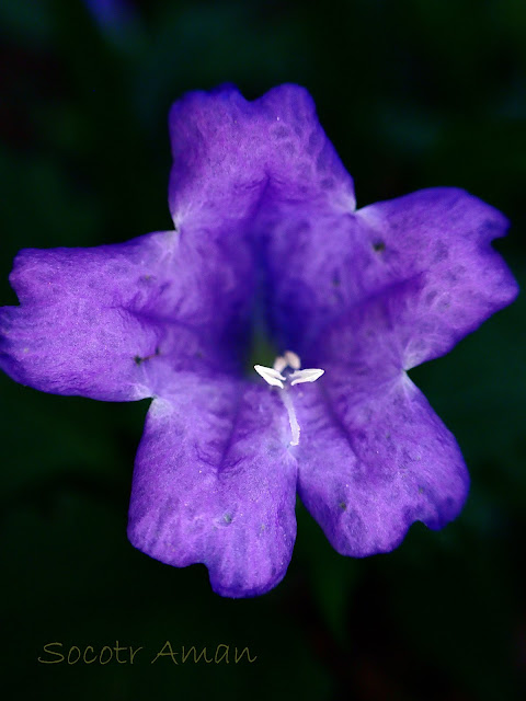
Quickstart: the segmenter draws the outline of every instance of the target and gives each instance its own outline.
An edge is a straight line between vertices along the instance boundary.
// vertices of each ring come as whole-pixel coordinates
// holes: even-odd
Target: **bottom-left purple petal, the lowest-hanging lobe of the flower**
[[[222,596],[267,591],[285,575],[296,537],[288,444],[283,406],[266,386],[181,375],[148,414],[132,543],[171,565],[204,563]]]

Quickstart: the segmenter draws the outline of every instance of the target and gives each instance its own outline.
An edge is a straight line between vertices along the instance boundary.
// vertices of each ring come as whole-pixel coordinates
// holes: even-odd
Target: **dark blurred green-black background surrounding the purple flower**
[[[16,302],[8,274],[20,248],[171,228],[169,106],[224,81],[250,99],[307,87],[358,206],[457,185],[502,209],[513,227],[498,248],[524,287],[523,0],[2,0],[0,24],[2,303]],[[519,297],[411,374],[469,466],[461,516],[350,560],[298,506],[285,581],[249,600],[214,595],[202,565],[172,568],[127,542],[147,402],[53,397],[0,377],[2,688],[57,700],[521,698],[524,312]],[[67,653],[116,640],[145,647],[133,667],[37,663],[49,642]],[[151,665],[167,640],[178,652],[249,645],[258,659]]]

